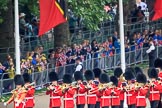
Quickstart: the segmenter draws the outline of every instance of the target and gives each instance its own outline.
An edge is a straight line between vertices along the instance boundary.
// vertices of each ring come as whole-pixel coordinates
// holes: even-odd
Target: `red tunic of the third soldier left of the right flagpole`
[[[111,106],[111,89],[106,88],[105,90],[101,91],[101,95],[101,107]]]

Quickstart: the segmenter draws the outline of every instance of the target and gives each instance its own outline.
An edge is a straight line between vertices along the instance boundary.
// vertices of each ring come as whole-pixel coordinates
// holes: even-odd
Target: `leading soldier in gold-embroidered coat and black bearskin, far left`
[[[25,106],[25,96],[26,96],[26,89],[23,87],[24,80],[21,75],[16,75],[14,77],[14,82],[16,85],[16,89],[12,90],[12,96],[10,99],[4,103],[4,106],[7,106],[11,102],[14,101],[14,108],[24,108]]]

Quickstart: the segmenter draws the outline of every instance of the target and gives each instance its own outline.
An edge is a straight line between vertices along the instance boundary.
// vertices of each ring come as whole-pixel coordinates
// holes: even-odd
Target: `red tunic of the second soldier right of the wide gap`
[[[75,89],[69,87],[68,91],[65,92],[64,96],[64,108],[74,108],[74,94]]]

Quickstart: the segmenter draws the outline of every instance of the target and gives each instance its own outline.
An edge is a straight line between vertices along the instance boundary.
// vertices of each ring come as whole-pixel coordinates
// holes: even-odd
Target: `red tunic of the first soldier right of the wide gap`
[[[55,86],[53,90],[46,91],[47,95],[50,95],[50,104],[49,108],[60,107],[61,106],[61,96],[62,90],[60,86]]]

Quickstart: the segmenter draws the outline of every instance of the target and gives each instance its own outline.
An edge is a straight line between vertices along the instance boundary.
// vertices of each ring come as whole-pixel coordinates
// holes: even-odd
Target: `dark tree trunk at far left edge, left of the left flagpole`
[[[14,14],[13,0],[0,0],[0,47],[13,46]]]

